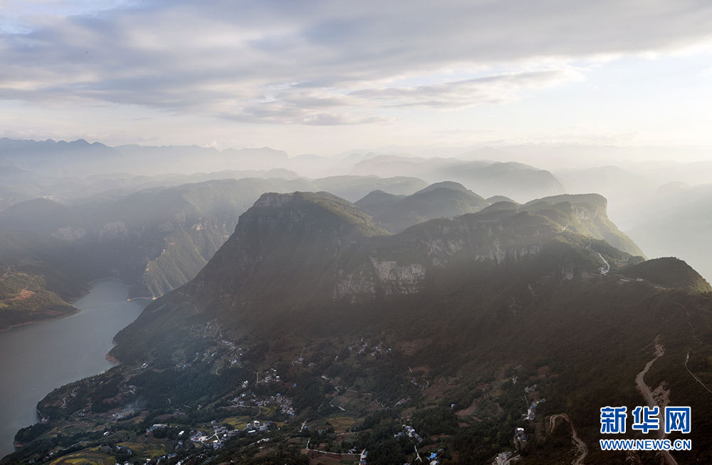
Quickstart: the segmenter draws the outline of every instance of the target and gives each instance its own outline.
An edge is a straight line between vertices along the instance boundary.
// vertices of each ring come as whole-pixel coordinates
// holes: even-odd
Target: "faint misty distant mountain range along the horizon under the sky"
[[[492,151],[476,154],[492,155]],[[269,147],[239,150],[197,146],[108,147],[85,140],[0,138],[0,210],[36,197],[66,203],[90,196],[117,199],[141,189],[213,179],[294,179],[300,175],[321,178],[345,174],[456,181],[485,197],[505,195],[518,202],[564,192],[550,172],[512,162],[377,153],[288,157],[286,152]]]

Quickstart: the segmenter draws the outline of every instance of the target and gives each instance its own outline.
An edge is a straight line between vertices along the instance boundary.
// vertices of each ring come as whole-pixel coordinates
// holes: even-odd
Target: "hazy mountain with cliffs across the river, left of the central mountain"
[[[372,189],[412,193],[419,179],[219,179],[98,196],[75,204],[32,199],[0,211],[0,229],[52,234],[100,257],[101,276],[117,274],[132,297],[157,297],[192,279],[263,192],[329,190],[357,199]]]

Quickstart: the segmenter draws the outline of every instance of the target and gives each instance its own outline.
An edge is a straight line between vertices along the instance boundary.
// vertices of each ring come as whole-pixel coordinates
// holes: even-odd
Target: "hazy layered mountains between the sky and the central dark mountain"
[[[614,245],[651,257],[679,256],[712,276],[712,251],[702,239],[709,232],[705,218],[712,191],[675,180],[697,179],[702,164],[660,165],[670,173],[664,178],[649,165],[642,169],[629,162],[625,168],[550,172],[506,159],[472,160],[517,158],[524,150],[483,148],[461,158],[350,152],[330,160],[289,157],[266,147],[108,147],[84,140],[4,138],[0,229],[81,244],[102,263],[95,268],[100,276],[120,276],[130,296],[156,297],[193,278],[234,230],[239,214],[263,192],[331,192],[356,202],[392,232],[500,201],[526,204],[564,192],[600,192],[612,217],[642,250]],[[144,174],[130,174],[139,166]],[[314,173],[334,176],[301,177]]]

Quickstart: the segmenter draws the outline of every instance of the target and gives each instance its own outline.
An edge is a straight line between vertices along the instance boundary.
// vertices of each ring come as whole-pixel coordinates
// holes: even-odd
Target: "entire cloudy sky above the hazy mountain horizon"
[[[712,1],[0,0],[0,136],[712,145]]]

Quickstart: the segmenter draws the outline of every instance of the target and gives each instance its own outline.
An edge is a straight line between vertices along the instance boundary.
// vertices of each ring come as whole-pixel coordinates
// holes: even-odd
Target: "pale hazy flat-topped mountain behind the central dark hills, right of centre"
[[[503,195],[521,202],[565,192],[550,172],[515,162],[379,155],[357,162],[352,172],[407,175],[428,182],[454,181],[486,197]]]

